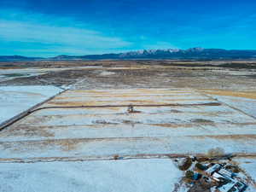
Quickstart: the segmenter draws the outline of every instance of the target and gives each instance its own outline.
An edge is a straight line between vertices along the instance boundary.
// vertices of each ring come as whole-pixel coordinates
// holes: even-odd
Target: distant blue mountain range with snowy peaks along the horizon
[[[42,60],[37,57],[24,57],[19,55],[0,56],[0,61],[26,61]],[[195,60],[221,60],[221,59],[256,59],[256,50],[227,50],[227,49],[145,49],[119,54],[103,55],[58,55],[44,60],[102,60],[102,59],[195,59]]]

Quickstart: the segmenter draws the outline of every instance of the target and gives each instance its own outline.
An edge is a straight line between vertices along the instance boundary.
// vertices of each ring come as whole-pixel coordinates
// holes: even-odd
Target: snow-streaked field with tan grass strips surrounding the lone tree
[[[113,107],[130,103],[144,106]],[[256,119],[197,90],[68,90],[42,107],[1,132],[1,161],[256,153]]]

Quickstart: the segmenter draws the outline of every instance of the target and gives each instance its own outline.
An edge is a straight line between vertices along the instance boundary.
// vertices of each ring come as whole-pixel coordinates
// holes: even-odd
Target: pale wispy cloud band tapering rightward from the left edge
[[[47,26],[26,22],[0,20],[0,37],[7,41],[40,42],[44,44],[84,45],[92,48],[108,44],[109,48],[126,46],[120,38],[109,38],[100,32],[68,26]]]

